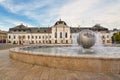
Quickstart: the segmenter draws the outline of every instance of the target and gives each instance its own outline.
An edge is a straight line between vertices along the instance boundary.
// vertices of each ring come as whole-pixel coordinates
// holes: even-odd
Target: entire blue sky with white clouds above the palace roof
[[[51,27],[59,19],[71,27],[120,29],[120,0],[0,0],[0,30]]]

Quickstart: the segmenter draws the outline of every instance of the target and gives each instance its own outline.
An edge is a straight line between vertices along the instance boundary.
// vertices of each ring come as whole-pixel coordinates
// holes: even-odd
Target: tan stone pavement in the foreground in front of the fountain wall
[[[26,64],[10,59],[9,50],[0,50],[0,80],[120,80],[120,74],[70,71]]]

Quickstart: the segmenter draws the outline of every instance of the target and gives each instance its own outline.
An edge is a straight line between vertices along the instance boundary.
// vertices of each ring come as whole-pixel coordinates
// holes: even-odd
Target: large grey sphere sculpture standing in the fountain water
[[[90,48],[95,44],[95,33],[91,30],[82,30],[77,36],[77,42],[83,48]]]

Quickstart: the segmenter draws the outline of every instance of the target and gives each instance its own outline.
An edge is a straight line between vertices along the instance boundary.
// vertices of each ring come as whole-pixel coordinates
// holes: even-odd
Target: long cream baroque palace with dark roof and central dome
[[[111,44],[111,36],[107,28],[99,24],[93,27],[70,27],[66,22],[57,21],[52,27],[27,27],[20,24],[10,28],[7,33],[7,42],[11,44],[76,44],[77,34],[84,29],[101,33],[102,43]]]

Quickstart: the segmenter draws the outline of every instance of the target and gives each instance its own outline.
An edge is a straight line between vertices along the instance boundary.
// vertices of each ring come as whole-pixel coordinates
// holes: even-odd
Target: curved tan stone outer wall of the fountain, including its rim
[[[52,68],[79,70],[85,72],[120,73],[120,57],[89,56],[89,55],[60,55],[10,49],[12,59]]]

